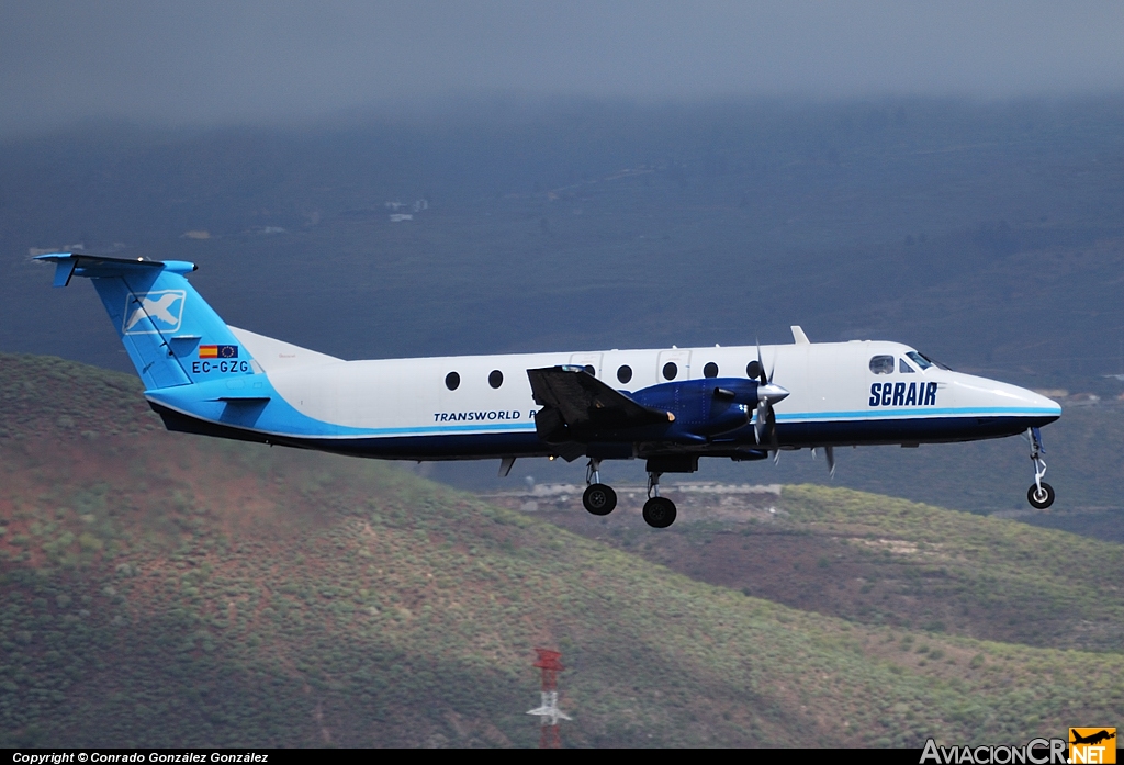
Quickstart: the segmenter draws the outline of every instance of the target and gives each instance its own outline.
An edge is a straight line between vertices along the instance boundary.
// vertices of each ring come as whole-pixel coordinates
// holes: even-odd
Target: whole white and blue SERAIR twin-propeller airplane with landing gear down
[[[900,343],[593,350],[344,361],[227,326],[183,261],[54,253],[55,286],[89,277],[169,430],[382,459],[584,457],[586,509],[616,507],[606,459],[644,459],[644,520],[670,526],[664,473],[701,457],[776,461],[841,446],[918,446],[1025,434],[1034,483],[1054,501],[1040,428],[1050,399],[953,372]],[[769,359],[765,372],[764,359]],[[777,382],[774,382],[774,380]],[[783,382],[783,385],[781,385]]]

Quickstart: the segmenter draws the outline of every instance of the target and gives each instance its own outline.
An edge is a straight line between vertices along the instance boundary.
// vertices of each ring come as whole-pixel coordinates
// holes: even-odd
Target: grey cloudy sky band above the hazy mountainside
[[[0,0],[0,135],[638,101],[1124,91],[1124,3]]]

